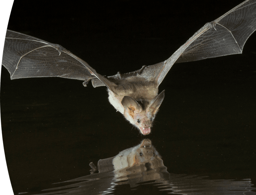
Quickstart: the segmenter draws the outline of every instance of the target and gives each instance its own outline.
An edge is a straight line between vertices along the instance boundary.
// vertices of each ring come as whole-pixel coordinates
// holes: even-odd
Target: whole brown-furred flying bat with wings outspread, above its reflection
[[[58,44],[7,30],[2,65],[11,79],[63,77],[106,86],[108,100],[143,135],[151,132],[155,115],[164,99],[158,87],[174,63],[242,53],[256,30],[256,0],[246,0],[220,18],[206,23],[164,62],[130,73],[102,76]]]

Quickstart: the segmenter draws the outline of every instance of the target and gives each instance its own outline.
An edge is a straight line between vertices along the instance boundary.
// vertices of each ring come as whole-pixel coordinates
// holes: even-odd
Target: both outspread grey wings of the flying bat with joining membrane
[[[255,30],[256,0],[246,0],[215,21],[206,23],[164,62],[108,77],[101,76],[58,44],[7,30],[2,64],[11,79],[53,76],[84,80],[85,86],[92,80],[94,87],[106,86],[112,90],[119,87],[115,80],[142,76],[159,86],[174,63],[242,53],[245,42]]]

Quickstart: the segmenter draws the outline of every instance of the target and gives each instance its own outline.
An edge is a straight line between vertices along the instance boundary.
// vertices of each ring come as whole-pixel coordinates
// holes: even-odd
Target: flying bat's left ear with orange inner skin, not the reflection
[[[141,105],[130,96],[124,96],[121,103],[124,106],[124,109],[128,109],[131,117],[133,117],[135,113],[140,113],[142,111]]]

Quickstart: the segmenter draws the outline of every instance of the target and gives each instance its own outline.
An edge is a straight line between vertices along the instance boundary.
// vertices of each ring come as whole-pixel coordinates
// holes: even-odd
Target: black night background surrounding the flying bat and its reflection
[[[169,58],[206,22],[242,0],[15,0],[8,28],[60,44],[103,75]],[[63,78],[10,80],[1,70],[1,125],[14,195],[90,174],[90,162],[150,138],[168,172],[256,184],[256,33],[242,55],[175,64],[142,136],[105,87]]]

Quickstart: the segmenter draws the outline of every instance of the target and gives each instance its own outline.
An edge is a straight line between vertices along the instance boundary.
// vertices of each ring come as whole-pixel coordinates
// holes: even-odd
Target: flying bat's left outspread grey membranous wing
[[[63,77],[83,80],[101,80],[108,89],[115,87],[85,61],[58,44],[52,44],[29,35],[7,30],[2,65],[11,79],[29,77]]]

